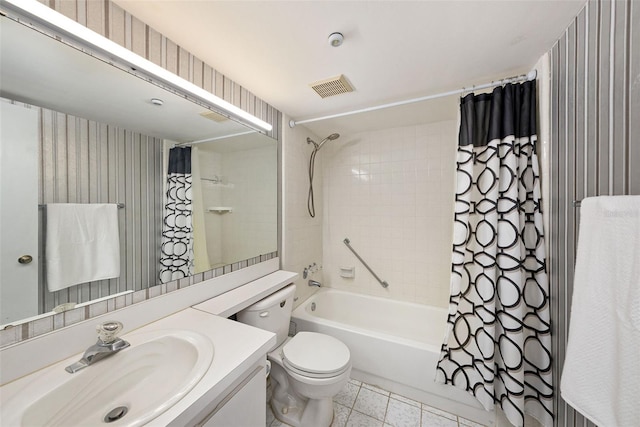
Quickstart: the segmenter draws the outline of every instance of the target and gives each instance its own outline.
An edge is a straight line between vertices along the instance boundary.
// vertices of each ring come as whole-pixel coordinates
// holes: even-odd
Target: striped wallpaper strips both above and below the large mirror
[[[193,84],[242,108],[256,117],[271,123],[273,130],[267,136],[281,139],[282,113],[246,88],[213,69],[199,58],[178,46],[136,17],[125,12],[110,0],[38,0],[66,17],[85,25],[98,34],[119,43],[151,62],[179,75]],[[0,348],[73,325],[94,316],[144,301],[155,296],[182,289],[203,280],[228,274],[257,263],[278,257],[270,252],[224,268],[210,270],[200,275],[159,285],[160,291],[143,289],[123,297],[112,298],[82,308],[69,310],[54,316],[0,330]],[[93,307],[93,306],[96,307]],[[106,305],[106,308],[105,308]]]

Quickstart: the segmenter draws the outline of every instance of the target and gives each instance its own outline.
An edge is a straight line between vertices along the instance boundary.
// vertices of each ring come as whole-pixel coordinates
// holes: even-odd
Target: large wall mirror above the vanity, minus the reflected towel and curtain
[[[277,251],[276,140],[0,19],[0,324],[160,283],[166,164],[176,145],[197,147],[206,253],[194,256],[207,270],[226,273]],[[50,203],[121,205],[118,277],[49,291]]]

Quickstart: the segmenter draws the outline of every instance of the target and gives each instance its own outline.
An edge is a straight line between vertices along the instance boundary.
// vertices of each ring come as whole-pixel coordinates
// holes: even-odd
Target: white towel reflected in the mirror
[[[120,276],[118,206],[48,204],[45,256],[50,292]]]

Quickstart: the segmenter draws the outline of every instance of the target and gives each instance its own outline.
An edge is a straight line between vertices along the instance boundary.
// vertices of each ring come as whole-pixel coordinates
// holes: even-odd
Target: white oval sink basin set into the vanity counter
[[[131,347],[75,374],[64,368],[82,354],[3,386],[3,425],[143,425],[187,395],[214,358],[211,340],[188,330],[123,338]]]

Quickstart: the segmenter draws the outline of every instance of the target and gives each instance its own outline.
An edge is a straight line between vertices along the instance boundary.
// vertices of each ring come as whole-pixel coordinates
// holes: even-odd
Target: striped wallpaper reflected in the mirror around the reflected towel
[[[37,107],[34,107],[37,108]],[[48,292],[40,234],[41,312],[156,284],[162,227],[162,140],[56,111],[40,111],[40,204],[124,203],[118,279]],[[40,230],[46,209],[40,209]]]

